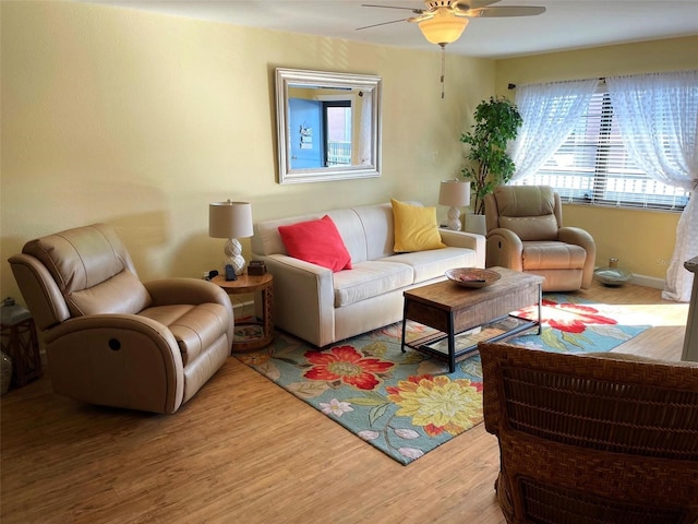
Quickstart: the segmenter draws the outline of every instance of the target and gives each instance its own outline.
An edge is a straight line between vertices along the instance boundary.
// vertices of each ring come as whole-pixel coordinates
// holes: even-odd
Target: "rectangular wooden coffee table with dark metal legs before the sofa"
[[[453,373],[456,359],[477,350],[478,342],[501,341],[533,327],[538,327],[540,334],[544,278],[505,267],[489,269],[502,278],[479,289],[465,288],[447,279],[405,291],[402,352],[407,346],[445,359]],[[509,314],[532,305],[538,305],[535,320]],[[408,320],[438,332],[406,343]]]

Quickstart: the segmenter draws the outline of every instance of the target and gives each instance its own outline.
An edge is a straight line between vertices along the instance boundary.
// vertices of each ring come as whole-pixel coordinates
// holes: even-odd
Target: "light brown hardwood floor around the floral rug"
[[[657,325],[617,350],[679,359],[688,305],[578,295]],[[234,358],[171,416],[84,405],[48,377],[0,407],[3,524],[504,522],[483,425],[402,466]]]

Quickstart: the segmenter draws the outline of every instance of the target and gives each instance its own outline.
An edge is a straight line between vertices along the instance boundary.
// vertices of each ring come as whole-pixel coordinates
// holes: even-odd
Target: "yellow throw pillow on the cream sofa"
[[[441,241],[436,207],[410,205],[390,199],[393,204],[393,222],[395,224],[396,253],[426,251],[446,246]]]

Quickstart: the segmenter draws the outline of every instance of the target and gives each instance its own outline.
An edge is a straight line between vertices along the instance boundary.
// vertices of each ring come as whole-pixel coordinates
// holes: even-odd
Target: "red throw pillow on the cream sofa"
[[[279,226],[279,234],[286,251],[294,259],[322,265],[334,272],[351,269],[351,255],[328,215],[318,221]]]

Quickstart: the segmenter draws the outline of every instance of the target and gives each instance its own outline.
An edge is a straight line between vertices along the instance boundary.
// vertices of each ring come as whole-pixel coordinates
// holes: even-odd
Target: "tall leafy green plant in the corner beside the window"
[[[472,130],[460,135],[460,141],[470,146],[466,156],[470,162],[460,172],[471,182],[472,212],[483,215],[484,196],[514,175],[516,166],[506,146],[516,139],[524,120],[516,104],[504,96],[482,100],[473,116]]]

